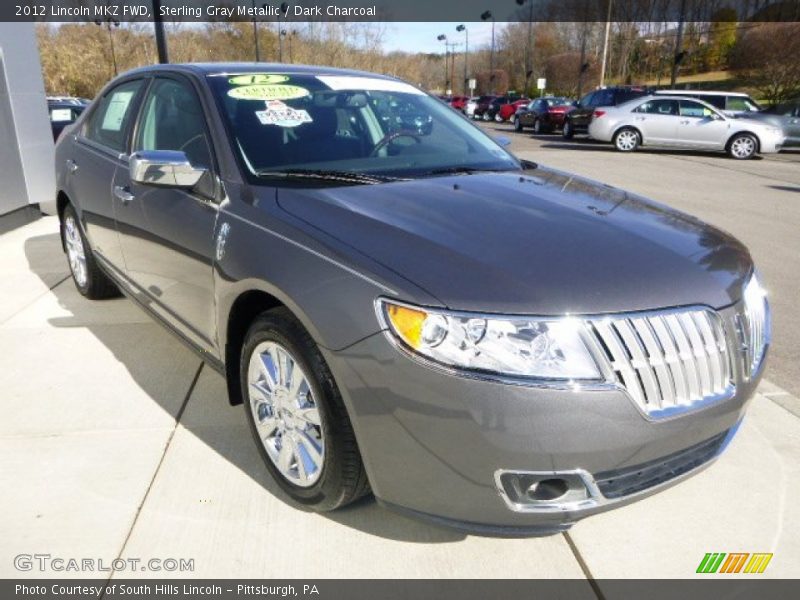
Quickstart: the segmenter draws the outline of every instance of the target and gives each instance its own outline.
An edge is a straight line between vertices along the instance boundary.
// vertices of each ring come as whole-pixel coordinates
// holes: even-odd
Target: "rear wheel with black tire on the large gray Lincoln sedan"
[[[72,281],[82,296],[90,300],[119,296],[119,288],[97,264],[78,215],[70,204],[61,216],[61,242],[67,253]]]

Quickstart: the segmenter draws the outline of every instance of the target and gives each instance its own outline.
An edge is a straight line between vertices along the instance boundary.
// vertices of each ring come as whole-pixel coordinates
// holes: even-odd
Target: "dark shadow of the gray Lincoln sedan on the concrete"
[[[28,238],[24,251],[30,270],[50,287],[46,277],[48,273],[52,273],[53,254],[62,253],[59,235],[52,233]],[[162,335],[160,328],[153,329],[152,344],[133,344],[125,336],[119,335],[119,331],[114,331],[113,326],[109,327],[113,325],[113,321],[98,319],[98,311],[103,311],[104,305],[110,308],[116,302],[131,302],[130,300],[87,300],[77,294],[69,279],[53,287],[51,293],[59,305],[71,313],[71,316],[50,319],[51,325],[86,328],[124,365],[134,382],[153,402],[173,418],[180,415],[183,427],[268,493],[297,510],[310,512],[310,509],[293,502],[269,476],[251,438],[242,407],[230,406],[228,403],[222,376],[203,365],[185,409],[179,407],[180,403],[174,397],[162,397],[163,384],[156,385],[165,378],[175,376],[174,365],[169,360],[164,360],[164,352],[154,351],[154,348],[165,345],[163,339],[155,339]],[[167,345],[169,344],[175,344],[177,351],[180,342],[173,338],[168,340]],[[465,533],[455,529],[410,519],[390,511],[378,505],[372,496],[323,515],[369,535],[404,542],[448,543],[466,537]]]

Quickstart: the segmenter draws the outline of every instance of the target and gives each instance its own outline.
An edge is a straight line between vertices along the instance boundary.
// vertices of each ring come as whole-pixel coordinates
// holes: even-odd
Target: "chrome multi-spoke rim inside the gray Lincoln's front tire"
[[[248,398],[258,437],[287,481],[311,487],[322,474],[325,442],[309,378],[276,342],[262,342],[250,356]]]

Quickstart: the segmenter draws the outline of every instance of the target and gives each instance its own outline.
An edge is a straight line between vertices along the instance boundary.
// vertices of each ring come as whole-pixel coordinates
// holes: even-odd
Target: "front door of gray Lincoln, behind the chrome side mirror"
[[[214,350],[212,277],[218,208],[211,137],[196,90],[180,76],[152,80],[141,103],[131,154],[173,150],[208,169],[192,189],[114,181],[127,276],[151,308],[203,350]]]

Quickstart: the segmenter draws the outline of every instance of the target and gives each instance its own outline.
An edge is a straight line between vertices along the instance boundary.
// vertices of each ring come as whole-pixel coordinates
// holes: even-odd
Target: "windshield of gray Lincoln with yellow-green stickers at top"
[[[520,168],[452,108],[399,81],[252,73],[209,82],[254,176],[325,171],[388,180]]]

